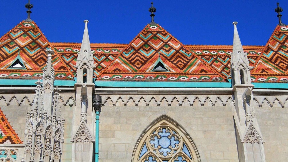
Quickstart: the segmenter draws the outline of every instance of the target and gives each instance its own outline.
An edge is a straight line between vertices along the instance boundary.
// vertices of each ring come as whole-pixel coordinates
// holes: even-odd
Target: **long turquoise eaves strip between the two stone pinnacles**
[[[95,81],[98,87],[232,88],[227,82]]]

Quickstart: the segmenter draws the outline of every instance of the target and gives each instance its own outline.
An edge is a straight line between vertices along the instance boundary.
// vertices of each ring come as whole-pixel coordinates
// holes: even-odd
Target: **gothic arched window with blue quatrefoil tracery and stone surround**
[[[197,162],[198,151],[188,134],[167,116],[160,117],[138,140],[133,162]]]

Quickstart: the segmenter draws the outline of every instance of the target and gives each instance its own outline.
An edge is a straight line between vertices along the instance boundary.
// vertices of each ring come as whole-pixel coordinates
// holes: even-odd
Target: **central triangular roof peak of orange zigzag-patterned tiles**
[[[151,72],[159,57],[169,72]],[[150,81],[223,81],[225,78],[161,26],[149,24],[98,77]]]

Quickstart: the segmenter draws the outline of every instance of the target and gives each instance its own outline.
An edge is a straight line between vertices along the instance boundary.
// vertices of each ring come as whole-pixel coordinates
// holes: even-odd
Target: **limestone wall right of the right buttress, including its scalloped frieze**
[[[254,95],[255,117],[265,140],[266,161],[288,161],[288,93],[275,93]]]

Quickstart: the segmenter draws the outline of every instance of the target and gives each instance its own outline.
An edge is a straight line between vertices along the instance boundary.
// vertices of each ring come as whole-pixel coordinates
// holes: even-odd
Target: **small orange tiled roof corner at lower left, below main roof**
[[[0,144],[22,144],[0,108]]]

